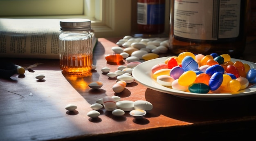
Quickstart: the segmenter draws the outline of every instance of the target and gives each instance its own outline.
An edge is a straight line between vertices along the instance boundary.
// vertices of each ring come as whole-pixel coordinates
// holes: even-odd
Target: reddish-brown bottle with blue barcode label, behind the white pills
[[[165,0],[137,0],[137,28],[141,34],[164,32]]]

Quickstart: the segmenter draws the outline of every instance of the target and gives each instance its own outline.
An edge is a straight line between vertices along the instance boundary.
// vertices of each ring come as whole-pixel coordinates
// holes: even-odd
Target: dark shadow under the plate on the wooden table
[[[145,92],[146,100],[153,104],[150,116],[164,115],[187,122],[218,121],[238,119],[256,115],[256,95],[234,97],[224,100],[199,101],[176,97],[157,92],[157,97],[149,88]]]

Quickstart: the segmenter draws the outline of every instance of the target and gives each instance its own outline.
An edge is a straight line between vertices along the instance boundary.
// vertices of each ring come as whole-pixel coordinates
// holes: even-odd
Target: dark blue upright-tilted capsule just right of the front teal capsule
[[[220,72],[213,73],[209,80],[210,90],[217,90],[223,81],[223,74]]]

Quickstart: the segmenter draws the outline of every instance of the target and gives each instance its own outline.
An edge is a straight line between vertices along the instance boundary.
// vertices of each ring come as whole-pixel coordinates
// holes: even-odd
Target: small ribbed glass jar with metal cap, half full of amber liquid
[[[83,75],[92,69],[91,21],[64,19],[60,21],[60,68],[63,73]]]

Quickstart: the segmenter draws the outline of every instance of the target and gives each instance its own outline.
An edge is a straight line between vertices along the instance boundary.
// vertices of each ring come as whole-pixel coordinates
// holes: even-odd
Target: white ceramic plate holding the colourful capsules
[[[168,93],[171,95],[175,95],[177,97],[182,97],[185,99],[193,99],[193,100],[219,100],[219,99],[227,99],[231,97],[239,97],[245,95],[252,95],[256,94],[256,85],[249,86],[245,90],[240,90],[234,94],[231,93],[212,93],[212,94],[200,94],[200,93],[190,93],[184,92],[180,90],[174,90],[172,88],[168,88],[162,86],[156,82],[153,78],[153,74],[151,73],[151,68],[159,63],[164,63],[164,61],[168,57],[160,57],[157,59],[148,60],[142,62],[141,64],[137,65],[132,71],[132,77],[140,84],[153,89],[159,92]],[[256,68],[256,64],[253,62],[248,62],[241,59],[233,59],[231,58],[232,62],[241,61],[243,63],[249,64],[251,68]]]

